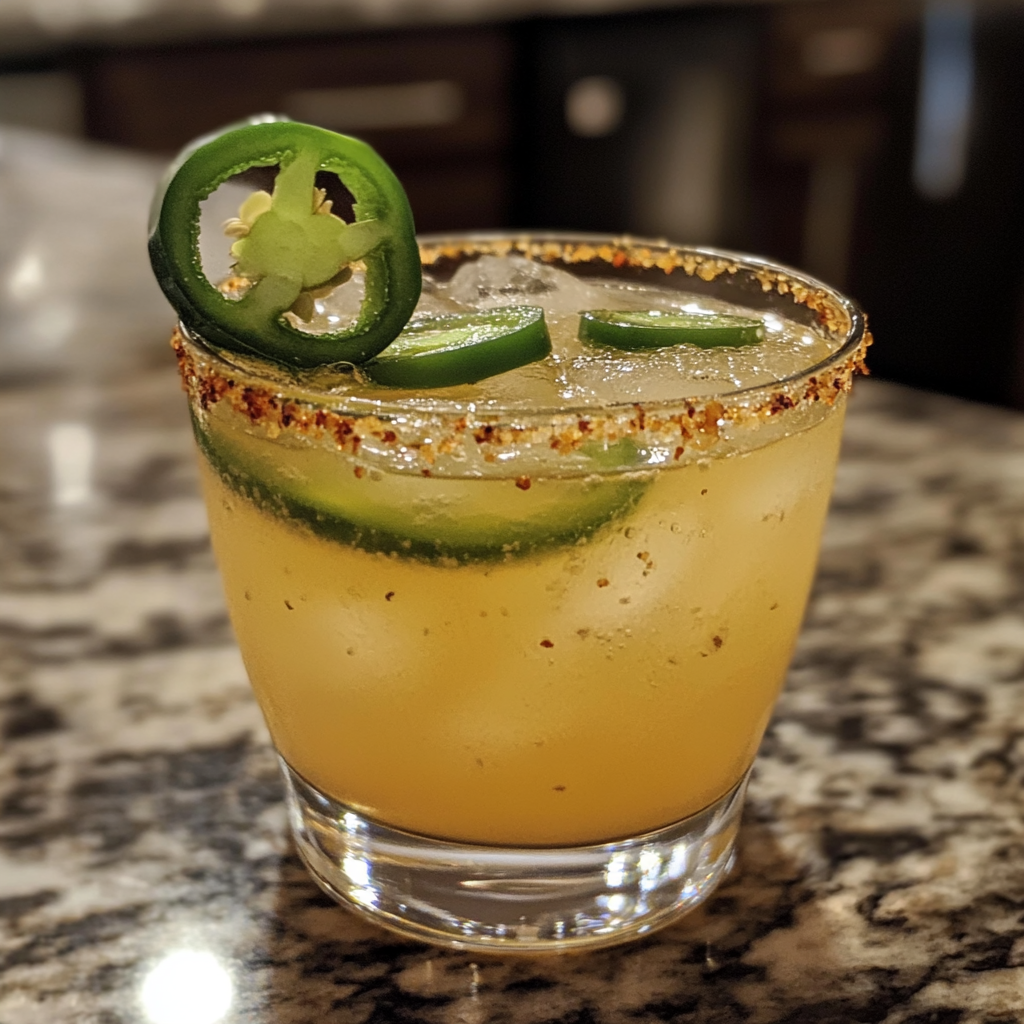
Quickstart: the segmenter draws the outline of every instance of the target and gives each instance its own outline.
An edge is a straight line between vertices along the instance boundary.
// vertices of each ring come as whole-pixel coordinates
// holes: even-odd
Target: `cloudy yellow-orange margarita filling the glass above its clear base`
[[[585,262],[614,300],[590,308],[722,307],[683,270],[670,293]],[[486,306],[465,269],[426,301]],[[247,383],[182,342],[231,622],[291,769],[368,819],[503,847],[635,837],[734,790],[804,612],[850,369],[779,390],[844,338],[772,297],[801,315],[769,312],[756,354],[671,358],[588,353],[559,299],[546,369],[429,398]]]

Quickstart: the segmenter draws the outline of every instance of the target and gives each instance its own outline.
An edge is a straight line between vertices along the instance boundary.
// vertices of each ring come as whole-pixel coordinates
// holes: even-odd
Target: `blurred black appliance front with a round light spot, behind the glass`
[[[762,20],[689,8],[524,27],[516,220],[749,245]]]

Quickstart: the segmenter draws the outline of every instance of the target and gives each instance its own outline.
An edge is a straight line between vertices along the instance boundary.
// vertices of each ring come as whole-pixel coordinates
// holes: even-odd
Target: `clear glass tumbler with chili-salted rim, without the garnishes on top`
[[[511,251],[784,318],[830,351],[756,387],[538,408],[332,392],[175,335],[231,621],[313,878],[427,941],[612,944],[732,863],[869,336],[829,288],[730,253],[421,249],[437,280]]]

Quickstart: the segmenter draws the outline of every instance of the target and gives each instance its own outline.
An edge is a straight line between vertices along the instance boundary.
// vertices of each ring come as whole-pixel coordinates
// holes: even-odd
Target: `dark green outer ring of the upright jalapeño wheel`
[[[312,196],[317,170],[336,173],[355,198],[352,238],[379,239],[359,254],[367,268],[362,308],[343,331],[314,335],[283,317],[309,285],[291,269],[262,278],[238,300],[222,295],[203,273],[200,203],[233,175],[274,164],[281,167],[279,181],[291,168],[291,178],[302,182],[293,184],[294,196],[303,188]],[[275,202],[276,191],[275,186]],[[293,197],[291,205],[295,202]],[[150,258],[189,331],[216,347],[298,369],[358,364],[376,355],[408,323],[422,284],[413,213],[387,164],[358,139],[272,115],[232,125],[182,151],[154,199]]]

